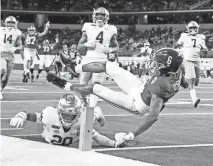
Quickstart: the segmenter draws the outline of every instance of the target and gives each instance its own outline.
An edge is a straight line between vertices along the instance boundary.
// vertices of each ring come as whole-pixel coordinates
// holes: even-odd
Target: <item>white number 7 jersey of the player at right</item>
[[[181,51],[183,52],[184,59],[199,61],[201,49],[206,49],[205,38],[203,34],[192,36],[187,33],[182,33],[178,40],[178,44],[182,45]]]

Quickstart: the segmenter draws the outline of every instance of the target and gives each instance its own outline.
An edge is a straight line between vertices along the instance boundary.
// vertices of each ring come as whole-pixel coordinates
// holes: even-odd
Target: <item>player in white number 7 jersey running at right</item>
[[[177,47],[180,47],[184,57],[184,67],[186,79],[189,82],[189,92],[192,104],[196,108],[200,102],[197,98],[194,86],[198,86],[200,79],[200,54],[201,51],[207,53],[205,45],[205,35],[198,34],[199,25],[191,21],[186,26],[188,33],[182,33],[178,40]]]

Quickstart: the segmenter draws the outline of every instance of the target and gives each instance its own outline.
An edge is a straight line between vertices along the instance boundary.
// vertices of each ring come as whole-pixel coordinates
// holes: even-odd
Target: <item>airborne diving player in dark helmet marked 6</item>
[[[130,113],[147,114],[145,120],[134,132],[117,134],[117,139],[126,141],[133,140],[134,137],[146,131],[158,120],[165,102],[179,91],[180,86],[188,87],[181,70],[182,62],[183,58],[178,51],[171,48],[158,50],[150,65],[152,78],[145,85],[136,76],[109,61],[84,64],[81,68],[78,67],[78,71],[76,70],[78,73],[79,69],[84,72],[106,72],[123,92],[110,90],[97,83],[74,85],[53,73],[47,75],[47,80],[62,89],[80,93],[83,97],[94,94]]]

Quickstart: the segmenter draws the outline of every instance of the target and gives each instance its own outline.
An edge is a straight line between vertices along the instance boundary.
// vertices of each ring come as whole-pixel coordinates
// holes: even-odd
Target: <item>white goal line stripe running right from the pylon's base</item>
[[[105,148],[94,149],[95,152],[124,151],[124,150],[147,150],[147,149],[171,149],[171,148],[192,148],[192,147],[213,147],[213,144],[191,144],[191,145],[166,145],[166,146],[145,146],[145,147],[126,147],[126,148]]]

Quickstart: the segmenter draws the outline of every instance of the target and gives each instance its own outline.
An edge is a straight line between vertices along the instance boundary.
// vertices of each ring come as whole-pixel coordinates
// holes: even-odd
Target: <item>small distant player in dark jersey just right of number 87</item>
[[[46,39],[43,41],[41,49],[43,50],[43,57],[40,58],[39,69],[38,69],[38,74],[36,76],[36,79],[39,78],[39,75],[41,74],[42,70],[45,70],[46,73],[50,71],[50,65],[51,65],[50,51],[53,49],[53,46],[50,46],[49,40]],[[32,74],[33,73],[31,73],[31,76]]]

